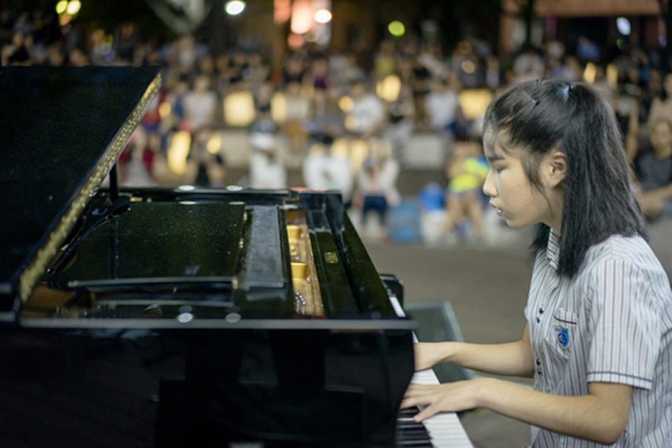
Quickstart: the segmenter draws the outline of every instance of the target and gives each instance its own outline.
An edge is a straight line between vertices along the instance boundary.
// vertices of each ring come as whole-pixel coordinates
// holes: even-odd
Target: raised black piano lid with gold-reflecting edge
[[[158,91],[158,67],[0,68],[0,321],[11,321]]]

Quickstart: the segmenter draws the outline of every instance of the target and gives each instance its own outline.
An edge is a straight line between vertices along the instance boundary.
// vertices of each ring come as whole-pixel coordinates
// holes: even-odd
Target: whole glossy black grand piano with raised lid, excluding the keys
[[[401,443],[412,322],[338,193],[118,188],[159,87],[0,68],[0,446]]]

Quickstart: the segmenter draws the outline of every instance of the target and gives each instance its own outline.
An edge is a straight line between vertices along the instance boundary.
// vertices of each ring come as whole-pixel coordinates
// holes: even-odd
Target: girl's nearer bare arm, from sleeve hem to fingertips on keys
[[[414,419],[437,412],[486,407],[495,412],[572,437],[616,442],[630,412],[632,387],[590,383],[587,395],[552,395],[491,378],[438,385],[412,384],[402,407],[428,405]]]

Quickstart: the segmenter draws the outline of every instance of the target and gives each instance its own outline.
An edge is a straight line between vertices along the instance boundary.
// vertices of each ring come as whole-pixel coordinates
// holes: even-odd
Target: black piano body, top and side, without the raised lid
[[[99,222],[109,193],[92,198],[64,247],[73,259],[45,276],[75,288],[71,300],[0,328],[0,381],[13,384],[0,417],[14,428],[0,446],[395,446],[412,323],[395,316],[337,195],[119,200]],[[325,316],[294,309],[285,219],[297,210]]]

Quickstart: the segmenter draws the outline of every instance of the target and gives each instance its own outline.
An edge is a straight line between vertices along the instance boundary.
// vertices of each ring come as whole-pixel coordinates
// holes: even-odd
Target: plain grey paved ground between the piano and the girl
[[[672,225],[653,229],[652,246],[668,273]],[[448,300],[464,339],[496,343],[518,339],[524,328],[523,310],[530,281],[532,258],[528,235],[495,225],[489,243],[444,247],[394,244],[365,239],[379,272],[395,274],[405,286],[405,301]],[[512,379],[531,386],[530,379]],[[477,448],[525,447],[529,426],[486,409],[461,415]]]

